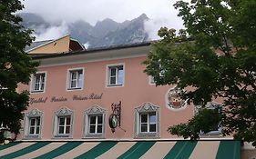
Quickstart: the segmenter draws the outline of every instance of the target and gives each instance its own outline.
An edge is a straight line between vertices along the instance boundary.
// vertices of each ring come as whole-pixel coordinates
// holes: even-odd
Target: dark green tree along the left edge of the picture
[[[36,62],[24,51],[32,43],[31,31],[26,30],[15,15],[24,6],[18,0],[0,0],[0,125],[18,134],[22,112],[28,106],[28,92],[16,92],[17,84],[28,84],[36,71]]]

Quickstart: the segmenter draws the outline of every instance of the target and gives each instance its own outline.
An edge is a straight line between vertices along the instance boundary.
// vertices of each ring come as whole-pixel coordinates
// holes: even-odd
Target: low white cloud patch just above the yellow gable
[[[68,34],[68,27],[66,23],[61,25],[52,26],[49,28],[39,27],[36,36],[36,41],[46,40],[46,39],[57,39],[61,36]]]

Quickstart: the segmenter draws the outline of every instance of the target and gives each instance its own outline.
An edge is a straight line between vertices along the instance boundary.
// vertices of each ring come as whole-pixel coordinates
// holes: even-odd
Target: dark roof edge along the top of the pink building
[[[42,54],[42,55],[32,55],[32,57],[33,59],[45,59],[45,58],[54,58],[54,57],[61,57],[61,56],[67,56],[67,55],[93,54],[93,53],[102,52],[102,51],[118,50],[118,49],[141,47],[141,46],[148,46],[148,45],[151,45],[151,42],[125,44],[125,45],[111,45],[111,46],[91,48],[83,51],[68,52],[66,54],[47,54],[47,55]]]

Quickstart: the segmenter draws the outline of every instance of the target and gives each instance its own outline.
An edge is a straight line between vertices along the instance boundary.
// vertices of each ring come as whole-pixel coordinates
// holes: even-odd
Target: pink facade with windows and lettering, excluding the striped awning
[[[30,92],[21,138],[171,137],[169,126],[186,123],[194,108],[173,95],[175,85],[156,86],[143,72],[149,49],[140,44],[34,57],[36,74],[18,88]],[[110,119],[112,104],[121,109]],[[109,120],[118,127],[111,129]]]

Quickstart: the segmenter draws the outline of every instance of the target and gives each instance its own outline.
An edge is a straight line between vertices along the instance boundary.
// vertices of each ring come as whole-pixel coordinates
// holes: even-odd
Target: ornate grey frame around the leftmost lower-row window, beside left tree
[[[30,121],[31,119],[39,118],[40,124],[35,124],[34,134],[30,134]],[[24,138],[40,138],[42,133],[43,127],[43,112],[39,111],[38,109],[32,109],[31,111],[25,113],[25,127],[24,127]],[[39,133],[36,134],[36,127],[39,127]]]

